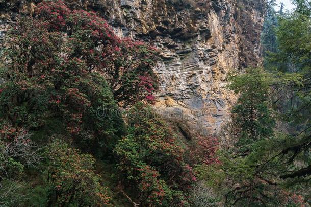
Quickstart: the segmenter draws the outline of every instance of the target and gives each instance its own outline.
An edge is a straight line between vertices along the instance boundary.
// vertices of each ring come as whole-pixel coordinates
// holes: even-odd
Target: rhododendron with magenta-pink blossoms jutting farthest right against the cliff
[[[158,85],[151,67],[154,66],[158,50],[142,42],[125,38],[121,40],[117,52],[117,59],[113,65],[109,64],[107,67],[114,97],[125,102],[125,105],[139,100],[153,103],[152,93]]]

